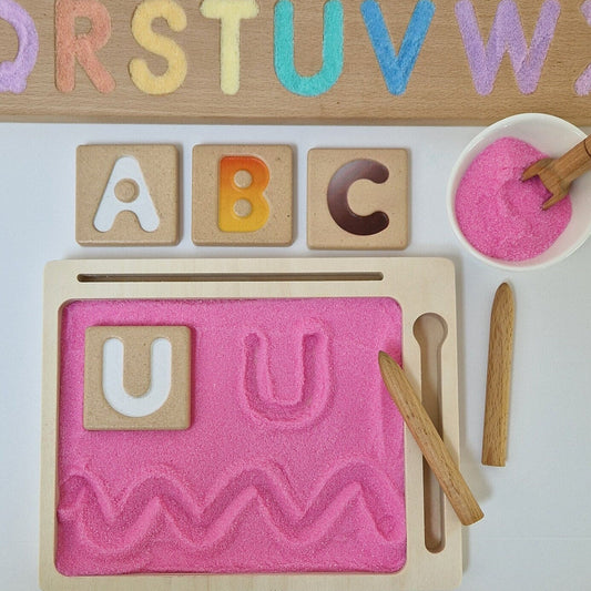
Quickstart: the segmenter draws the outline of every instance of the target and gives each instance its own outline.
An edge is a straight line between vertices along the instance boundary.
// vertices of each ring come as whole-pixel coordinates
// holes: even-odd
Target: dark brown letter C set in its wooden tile
[[[328,183],[326,196],[328,211],[339,227],[357,236],[371,236],[388,227],[387,214],[374,212],[369,215],[357,215],[347,200],[349,187],[356,181],[366,179],[381,184],[388,180],[388,169],[375,160],[354,160],[338,169]]]

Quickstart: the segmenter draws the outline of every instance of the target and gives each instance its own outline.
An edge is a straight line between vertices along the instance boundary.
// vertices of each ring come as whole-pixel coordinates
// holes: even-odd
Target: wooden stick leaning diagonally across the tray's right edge
[[[379,351],[379,369],[400,415],[460,521],[470,526],[482,519],[485,513],[400,366],[388,354]]]

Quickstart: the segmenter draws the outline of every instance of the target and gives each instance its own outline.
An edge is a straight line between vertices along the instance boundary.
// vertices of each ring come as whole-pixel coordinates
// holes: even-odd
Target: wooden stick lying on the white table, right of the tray
[[[507,460],[513,324],[513,292],[503,283],[497,289],[490,314],[487,401],[482,435],[482,463],[486,466],[505,466]]]

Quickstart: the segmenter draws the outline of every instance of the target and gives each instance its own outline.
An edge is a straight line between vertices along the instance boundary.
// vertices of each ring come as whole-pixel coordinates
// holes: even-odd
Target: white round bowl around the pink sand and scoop
[[[541,113],[513,115],[490,125],[466,146],[451,171],[447,187],[447,210],[451,227],[459,242],[485,263],[508,271],[548,267],[577,251],[591,234],[591,172],[580,176],[571,185],[572,217],[564,232],[548,251],[529,261],[501,261],[483,255],[466,240],[456,218],[456,193],[468,166],[485,147],[507,136],[528,142],[551,157],[561,156],[587,137],[571,123]]]

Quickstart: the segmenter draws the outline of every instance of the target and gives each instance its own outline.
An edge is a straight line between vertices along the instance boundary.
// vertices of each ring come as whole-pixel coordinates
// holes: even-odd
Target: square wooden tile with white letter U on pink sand
[[[179,430],[191,422],[185,326],[92,326],[85,333],[84,428]]]

